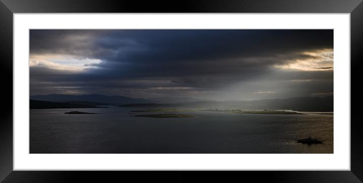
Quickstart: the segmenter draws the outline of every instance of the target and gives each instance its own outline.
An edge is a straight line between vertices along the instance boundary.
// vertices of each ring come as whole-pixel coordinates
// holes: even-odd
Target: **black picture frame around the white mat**
[[[4,182],[157,180],[269,182],[361,182],[363,180],[362,122],[358,115],[362,95],[360,69],[363,53],[361,0],[266,1],[98,1],[0,0],[0,180]],[[13,171],[13,14],[14,13],[350,13],[351,36],[351,171]],[[12,96],[12,97],[10,97]],[[349,122],[349,121],[347,121]],[[115,179],[114,179],[115,178]],[[88,180],[87,180],[88,179]]]

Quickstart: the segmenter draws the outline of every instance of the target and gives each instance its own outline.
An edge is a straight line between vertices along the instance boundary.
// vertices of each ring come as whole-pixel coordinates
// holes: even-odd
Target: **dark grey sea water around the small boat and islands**
[[[63,114],[76,110],[99,114]],[[30,153],[333,153],[333,115],[149,118],[132,117],[131,110],[144,109],[30,110]],[[308,136],[324,144],[296,143]]]

